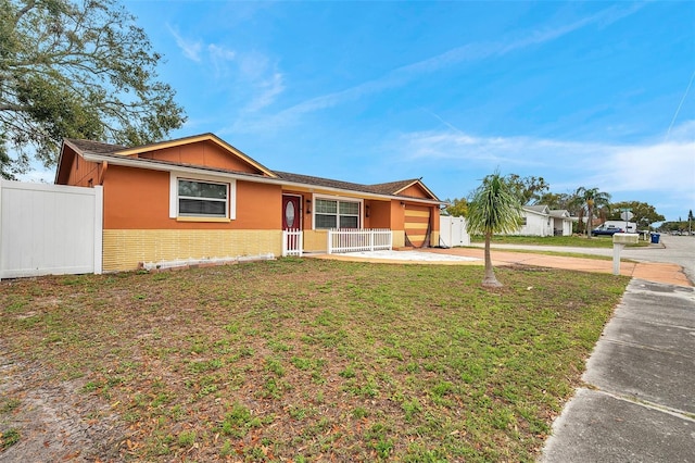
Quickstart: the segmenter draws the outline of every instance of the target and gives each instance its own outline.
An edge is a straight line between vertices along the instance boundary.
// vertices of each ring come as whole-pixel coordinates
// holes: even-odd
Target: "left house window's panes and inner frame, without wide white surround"
[[[178,215],[188,217],[226,217],[226,184],[178,179]]]

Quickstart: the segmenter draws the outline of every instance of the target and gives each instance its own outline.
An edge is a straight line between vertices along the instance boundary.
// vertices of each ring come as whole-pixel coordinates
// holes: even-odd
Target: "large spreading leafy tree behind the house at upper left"
[[[114,0],[0,0],[0,172],[55,164],[63,137],[144,145],[181,126],[162,57]]]

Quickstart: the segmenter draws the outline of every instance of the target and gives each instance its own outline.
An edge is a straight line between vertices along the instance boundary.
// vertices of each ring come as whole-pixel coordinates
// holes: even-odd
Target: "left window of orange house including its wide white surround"
[[[235,218],[236,182],[213,176],[207,177],[186,178],[172,173],[169,217],[203,222]]]

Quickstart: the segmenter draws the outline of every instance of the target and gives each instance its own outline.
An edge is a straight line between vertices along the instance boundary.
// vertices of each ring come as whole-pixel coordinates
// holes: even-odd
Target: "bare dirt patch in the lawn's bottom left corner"
[[[0,342],[0,404],[5,404],[0,433],[20,435],[0,451],[0,462],[119,460],[125,426],[108,403],[81,387],[78,380],[58,380],[38,362],[13,360]]]

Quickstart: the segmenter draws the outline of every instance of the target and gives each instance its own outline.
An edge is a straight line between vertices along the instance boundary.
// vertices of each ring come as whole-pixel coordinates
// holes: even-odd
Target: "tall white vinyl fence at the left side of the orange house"
[[[101,273],[102,187],[0,180],[0,278]]]

